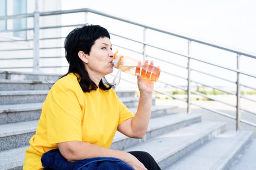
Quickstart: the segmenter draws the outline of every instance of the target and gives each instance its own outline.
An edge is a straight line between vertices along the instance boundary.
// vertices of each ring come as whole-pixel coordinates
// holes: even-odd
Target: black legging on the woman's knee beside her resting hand
[[[148,170],[161,170],[149,153],[143,151],[131,151],[128,153],[135,156]]]

